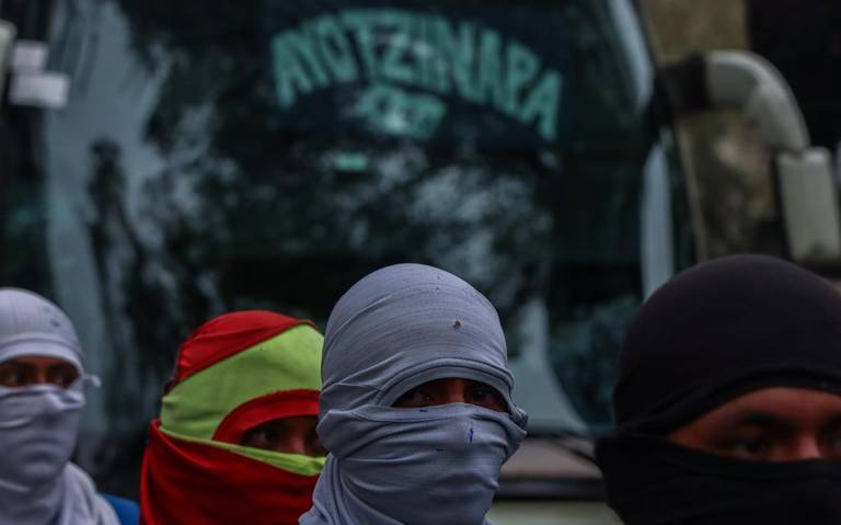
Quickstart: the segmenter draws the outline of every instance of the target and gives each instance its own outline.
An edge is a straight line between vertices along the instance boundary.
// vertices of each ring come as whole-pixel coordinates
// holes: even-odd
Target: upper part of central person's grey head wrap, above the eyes
[[[394,392],[461,365],[499,390],[511,416],[522,414],[510,392],[514,378],[499,317],[470,284],[423,264],[398,264],[354,285],[327,321],[322,365],[324,408],[380,404]],[[456,376],[460,377],[460,376]]]

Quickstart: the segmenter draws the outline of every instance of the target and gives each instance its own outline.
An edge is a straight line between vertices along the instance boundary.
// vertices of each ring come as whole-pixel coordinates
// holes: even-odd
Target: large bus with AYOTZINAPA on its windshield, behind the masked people
[[[591,456],[623,328],[703,259],[676,117],[744,107],[781,254],[841,252],[829,159],[779,75],[657,66],[631,0],[12,0],[0,21],[0,285],[74,321],[103,383],[78,460],[108,492],[136,495],[193,328],[324,327],[362,275],[420,262],[497,307],[530,413],[492,516],[617,523]]]

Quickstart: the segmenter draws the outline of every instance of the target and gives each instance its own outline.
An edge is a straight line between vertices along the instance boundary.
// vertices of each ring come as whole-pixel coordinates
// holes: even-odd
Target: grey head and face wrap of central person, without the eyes
[[[425,383],[494,387],[508,412],[463,403],[393,408]],[[491,303],[419,264],[377,271],[327,323],[319,436],[331,452],[302,524],[486,523],[499,469],[526,435]]]

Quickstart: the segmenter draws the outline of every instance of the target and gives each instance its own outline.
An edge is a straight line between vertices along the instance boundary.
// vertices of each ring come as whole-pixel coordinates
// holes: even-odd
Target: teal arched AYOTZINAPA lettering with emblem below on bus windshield
[[[557,138],[561,73],[492,27],[400,9],[346,9],[287,28],[270,45],[284,109],[314,90],[365,80],[378,87],[357,113],[373,118],[377,107],[392,109],[373,118],[383,132],[430,136],[447,113],[440,96],[458,96],[533,127],[548,142]],[[410,99],[419,106],[407,110]]]

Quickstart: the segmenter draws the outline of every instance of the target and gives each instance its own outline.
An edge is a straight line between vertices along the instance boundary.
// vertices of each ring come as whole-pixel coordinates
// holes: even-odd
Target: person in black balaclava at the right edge
[[[657,290],[629,326],[597,446],[626,525],[841,524],[841,294],[736,255]]]

